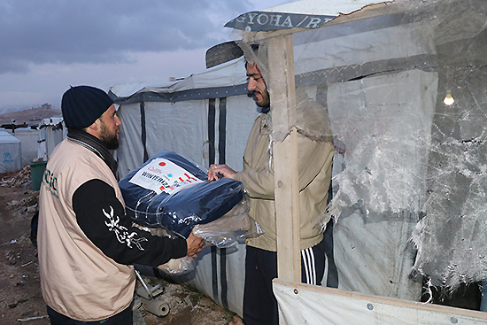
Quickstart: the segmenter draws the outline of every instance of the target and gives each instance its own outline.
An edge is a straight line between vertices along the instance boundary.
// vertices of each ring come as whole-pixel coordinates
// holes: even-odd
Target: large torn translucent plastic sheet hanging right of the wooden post
[[[339,225],[352,214],[363,221],[334,230],[335,245],[344,246],[337,267],[354,270],[341,274],[350,290],[375,291],[357,279],[382,277],[391,284],[376,294],[418,299],[417,291],[401,293],[416,283],[395,282],[413,269],[452,288],[487,278],[486,27],[481,0],[412,0],[293,34],[297,94],[304,89],[321,104],[333,131],[325,135],[340,144],[343,159],[323,224],[333,216]],[[269,78],[262,35],[242,33],[240,42],[245,58]],[[448,95],[453,104],[444,103]],[[305,124],[302,130],[316,129]],[[395,241],[381,239],[391,229],[398,229]],[[362,265],[348,251],[355,249],[349,239],[366,242],[360,236],[371,234],[378,240],[363,249],[383,255]],[[414,262],[414,253],[387,250],[411,239]]]

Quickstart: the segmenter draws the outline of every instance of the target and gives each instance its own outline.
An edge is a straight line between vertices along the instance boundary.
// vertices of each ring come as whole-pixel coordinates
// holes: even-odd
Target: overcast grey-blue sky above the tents
[[[244,12],[292,0],[1,0],[0,113],[60,108],[70,85],[168,81],[205,70]]]

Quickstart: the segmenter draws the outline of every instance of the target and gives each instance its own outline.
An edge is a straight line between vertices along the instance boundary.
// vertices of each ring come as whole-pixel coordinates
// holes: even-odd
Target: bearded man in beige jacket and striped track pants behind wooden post
[[[245,325],[277,324],[277,302],[272,280],[277,277],[274,159],[272,157],[272,120],[266,81],[256,64],[247,63],[248,89],[262,114],[255,120],[243,154],[243,171],[236,172],[226,165],[212,165],[210,180],[218,174],[243,183],[251,197],[249,214],[264,229],[265,234],[247,240],[245,258],[245,288],[243,293],[243,321]],[[297,91],[305,98],[305,92]],[[300,109],[307,113],[319,110],[317,103],[306,101]],[[321,107],[322,109],[322,107]],[[325,119],[329,123],[328,117]],[[329,125],[327,125],[329,128]],[[301,221],[302,280],[321,285],[325,268],[325,243],[316,221],[327,206],[333,153],[331,135],[317,138],[298,131],[298,174]]]

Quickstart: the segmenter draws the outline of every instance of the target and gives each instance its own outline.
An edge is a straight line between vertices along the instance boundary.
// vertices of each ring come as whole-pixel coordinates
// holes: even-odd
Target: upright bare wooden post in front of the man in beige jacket
[[[292,35],[268,40],[274,156],[274,197],[277,229],[277,275],[301,281],[298,132]]]

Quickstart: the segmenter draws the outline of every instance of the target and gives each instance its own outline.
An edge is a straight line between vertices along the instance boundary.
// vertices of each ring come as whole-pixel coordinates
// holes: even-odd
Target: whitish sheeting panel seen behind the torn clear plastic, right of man
[[[331,85],[328,97],[334,134],[352,144],[336,175],[342,189],[336,205],[350,207],[334,228],[339,288],[416,300],[421,282],[409,276],[415,250],[408,238],[425,190],[437,74],[413,70],[349,81]],[[381,210],[353,206],[361,200]]]

